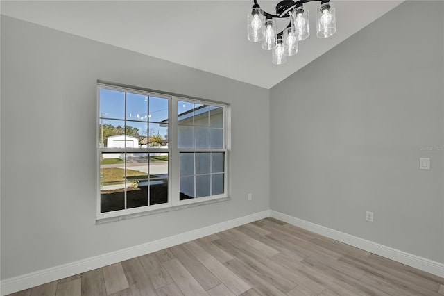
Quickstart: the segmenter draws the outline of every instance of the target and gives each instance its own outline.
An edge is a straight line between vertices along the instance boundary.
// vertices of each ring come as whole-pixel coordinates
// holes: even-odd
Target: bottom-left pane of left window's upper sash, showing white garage
[[[117,136],[121,136],[120,140]],[[99,147],[125,147],[125,122],[123,120],[100,120]]]

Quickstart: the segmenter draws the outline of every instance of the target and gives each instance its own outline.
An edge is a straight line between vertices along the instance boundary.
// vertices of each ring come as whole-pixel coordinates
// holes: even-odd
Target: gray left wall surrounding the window
[[[96,225],[97,79],[232,104],[232,200]],[[269,208],[264,88],[4,16],[1,86],[2,279]]]

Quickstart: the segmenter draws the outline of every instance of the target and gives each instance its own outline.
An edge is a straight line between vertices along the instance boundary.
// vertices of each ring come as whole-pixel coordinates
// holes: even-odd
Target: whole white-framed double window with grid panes
[[[101,83],[98,101],[98,219],[228,196],[226,105]]]

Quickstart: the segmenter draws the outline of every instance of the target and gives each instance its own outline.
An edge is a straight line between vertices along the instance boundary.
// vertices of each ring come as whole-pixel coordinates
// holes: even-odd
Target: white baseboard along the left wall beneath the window
[[[203,227],[185,233],[180,233],[176,236],[171,236],[169,238],[163,238],[161,240],[147,242],[146,244],[143,245],[128,247],[126,249],[121,249],[116,252],[111,252],[100,256],[94,256],[92,258],[87,258],[84,260],[67,263],[64,265],[59,265],[53,268],[48,268],[46,270],[31,272],[28,274],[21,275],[19,277],[4,279],[0,283],[0,294],[3,296],[3,295],[8,295],[10,293],[15,293],[20,290],[25,290],[31,287],[40,286],[44,283],[49,283],[51,281],[56,281],[58,279],[63,279],[65,277],[71,277],[75,274],[87,272],[89,270],[94,270],[96,268],[102,268],[103,266],[106,265],[125,261],[130,258],[142,256],[144,254],[156,252],[159,251],[160,249],[166,249],[169,247],[173,247],[175,245],[180,245],[184,242],[189,242],[190,240],[196,240],[197,238],[202,238],[203,236],[209,236],[210,234],[231,229],[233,227],[238,227],[240,225],[254,222],[269,216],[270,213],[268,210],[259,213],[254,213],[244,217],[239,217],[237,219],[210,225],[208,227]]]

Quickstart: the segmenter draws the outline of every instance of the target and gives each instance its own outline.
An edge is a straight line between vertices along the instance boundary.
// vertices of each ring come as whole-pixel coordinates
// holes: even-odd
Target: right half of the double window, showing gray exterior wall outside
[[[178,101],[180,200],[223,195],[224,108]]]

